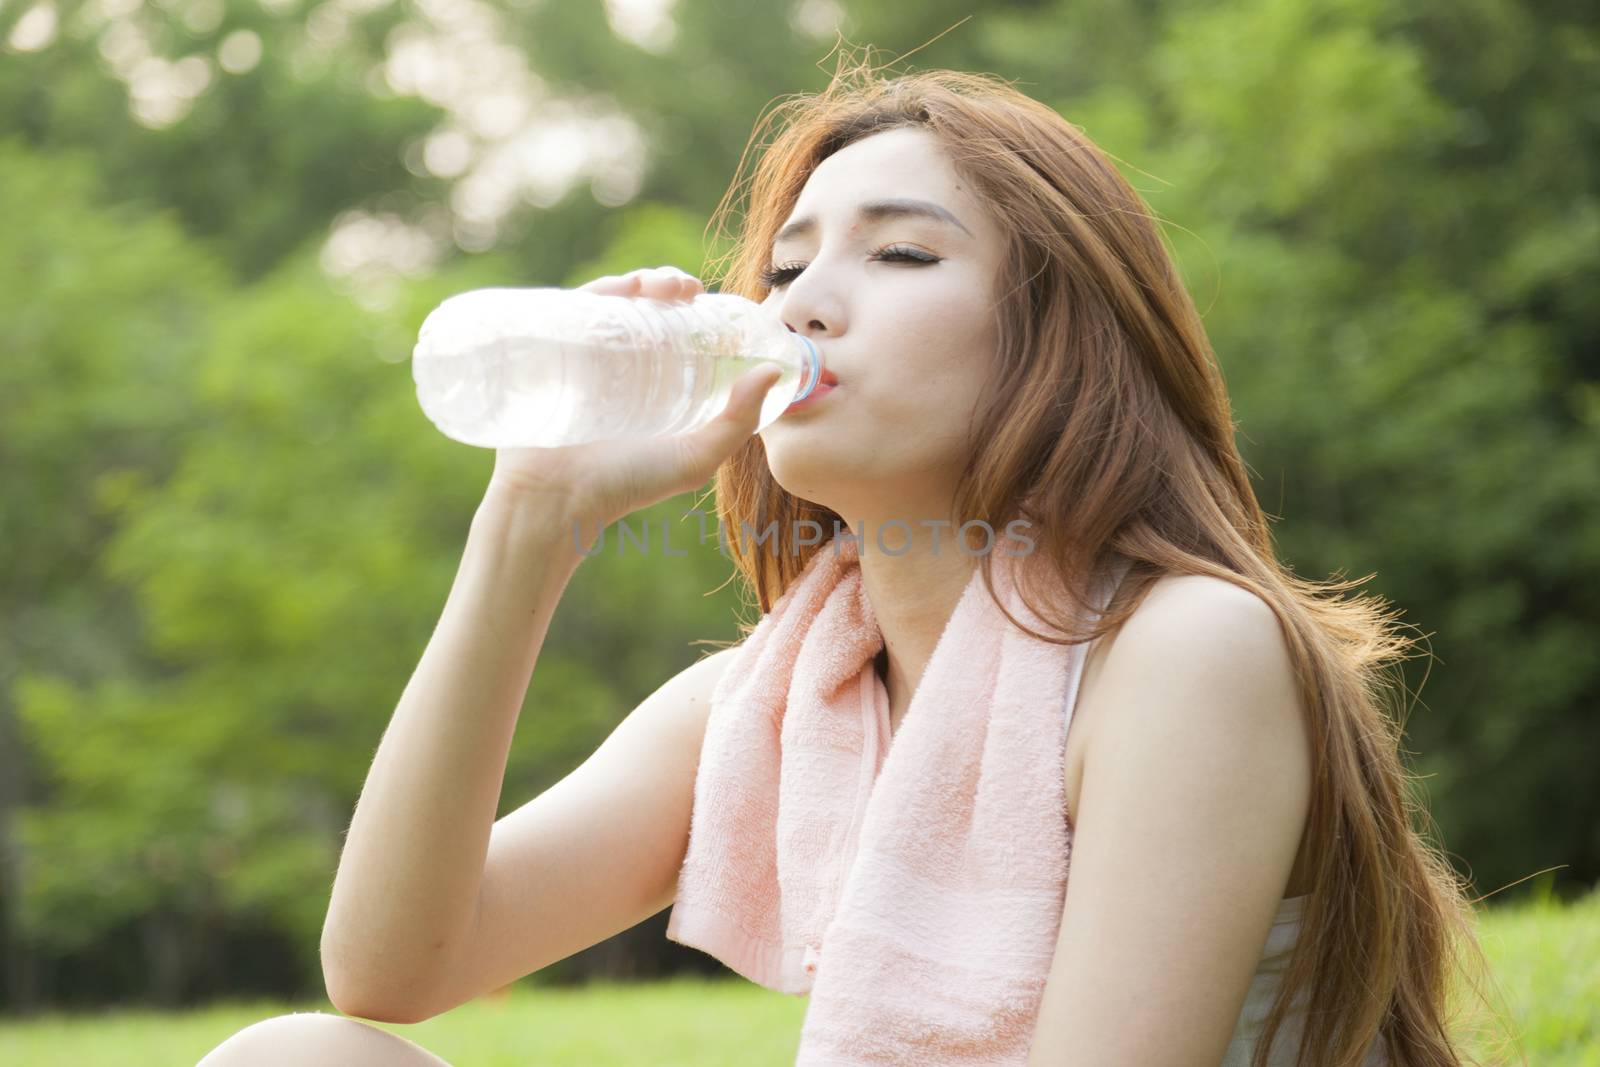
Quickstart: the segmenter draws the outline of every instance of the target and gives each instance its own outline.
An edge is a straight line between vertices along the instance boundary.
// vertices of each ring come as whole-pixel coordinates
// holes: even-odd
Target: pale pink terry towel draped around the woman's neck
[[[1051,633],[1016,595],[1022,549],[997,539],[995,590]],[[667,937],[810,993],[802,1067],[1026,1064],[1066,899],[1085,646],[1018,630],[974,569],[891,747],[858,552],[822,545],[712,696]]]

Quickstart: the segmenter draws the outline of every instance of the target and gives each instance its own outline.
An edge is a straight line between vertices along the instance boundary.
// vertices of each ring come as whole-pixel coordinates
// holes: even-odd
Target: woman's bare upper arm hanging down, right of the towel
[[[1094,699],[1029,1067],[1218,1064],[1310,809],[1282,627],[1237,585],[1162,579]]]

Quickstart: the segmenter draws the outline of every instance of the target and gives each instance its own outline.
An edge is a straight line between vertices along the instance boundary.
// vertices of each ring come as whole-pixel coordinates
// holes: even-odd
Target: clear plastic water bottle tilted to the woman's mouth
[[[822,357],[760,304],[733,293],[656,301],[582,290],[472,290],[422,322],[411,373],[422,411],[478,448],[554,448],[678,434],[728,403],[734,379],[784,368],[766,427],[805,398]]]

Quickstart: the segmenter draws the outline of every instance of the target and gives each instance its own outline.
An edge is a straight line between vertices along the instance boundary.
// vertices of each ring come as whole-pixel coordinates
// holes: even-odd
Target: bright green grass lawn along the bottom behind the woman
[[[1499,907],[1482,920],[1480,937],[1506,998],[1512,1048],[1526,1064],[1600,1067],[1600,891],[1571,907]],[[454,1067],[779,1067],[794,1062],[805,1006],[741,979],[518,985],[418,1025],[374,1025]],[[0,1064],[192,1067],[235,1030],[286,1011],[334,1013],[326,1001],[234,1003],[178,1016],[117,1011],[0,1022]],[[1483,1054],[1483,1045],[1467,1046]]]

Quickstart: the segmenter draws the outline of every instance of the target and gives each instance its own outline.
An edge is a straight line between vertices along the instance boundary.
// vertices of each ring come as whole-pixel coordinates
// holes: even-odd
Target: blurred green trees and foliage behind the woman
[[[422,315],[704,275],[757,115],[840,37],[1118,158],[1282,557],[1430,635],[1406,744],[1451,856],[1483,894],[1595,883],[1594,5],[0,0],[0,1009],[320,992],[493,461],[416,408]],[[693,504],[632,517],[686,558],[579,569],[501,814],[736,635]],[[528,982],[718,969],[664,925]]]

